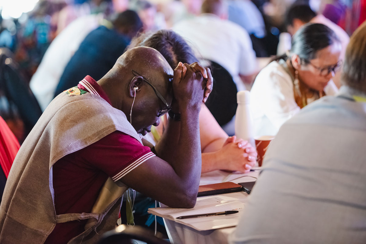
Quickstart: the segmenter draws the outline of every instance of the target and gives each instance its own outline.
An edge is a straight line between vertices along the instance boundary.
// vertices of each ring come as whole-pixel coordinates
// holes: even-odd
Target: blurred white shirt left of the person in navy
[[[98,27],[102,18],[102,14],[82,16],[51,42],[29,84],[42,111],[52,101],[60,77],[80,43],[90,31]]]

